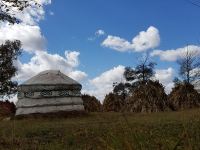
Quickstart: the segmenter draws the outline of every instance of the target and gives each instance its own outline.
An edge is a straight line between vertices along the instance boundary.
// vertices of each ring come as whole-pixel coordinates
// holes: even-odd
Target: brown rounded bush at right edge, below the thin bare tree
[[[169,94],[172,110],[195,108],[200,106],[200,96],[194,86],[188,83],[176,84]]]

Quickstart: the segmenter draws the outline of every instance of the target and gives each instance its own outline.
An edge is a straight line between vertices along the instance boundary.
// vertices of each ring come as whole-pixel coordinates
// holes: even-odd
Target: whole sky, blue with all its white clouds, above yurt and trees
[[[189,0],[39,2],[42,7],[34,10],[39,13],[19,15],[21,25],[0,27],[3,39],[23,33],[24,51],[16,62],[19,82],[45,69],[61,69],[83,84],[84,93],[102,100],[112,82],[123,81],[124,67],[134,67],[149,53],[157,63],[156,77],[169,92],[185,47],[200,51],[200,7]],[[150,46],[137,48],[141,41]]]

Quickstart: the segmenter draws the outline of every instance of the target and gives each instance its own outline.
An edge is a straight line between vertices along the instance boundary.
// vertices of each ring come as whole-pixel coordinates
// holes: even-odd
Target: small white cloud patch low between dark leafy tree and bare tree
[[[174,86],[173,79],[175,77],[175,70],[173,68],[157,69],[155,78],[158,79],[164,86],[165,91],[169,93]]]

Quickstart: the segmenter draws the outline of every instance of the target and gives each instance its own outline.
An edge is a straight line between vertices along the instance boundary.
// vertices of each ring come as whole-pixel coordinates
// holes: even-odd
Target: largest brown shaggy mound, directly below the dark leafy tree
[[[126,101],[126,110],[129,112],[158,112],[167,109],[167,95],[158,81],[138,84]]]

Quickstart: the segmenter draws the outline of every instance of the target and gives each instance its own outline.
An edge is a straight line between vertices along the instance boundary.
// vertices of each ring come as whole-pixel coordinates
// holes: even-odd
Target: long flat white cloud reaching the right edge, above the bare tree
[[[171,49],[171,50],[154,50],[150,55],[159,56],[161,60],[164,61],[176,61],[184,54],[186,51],[197,52],[200,55],[200,47],[196,45],[188,45],[182,48]]]

